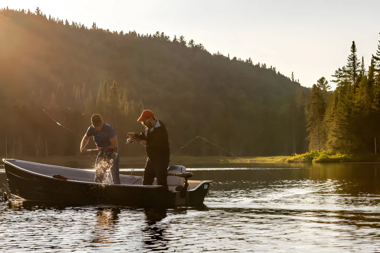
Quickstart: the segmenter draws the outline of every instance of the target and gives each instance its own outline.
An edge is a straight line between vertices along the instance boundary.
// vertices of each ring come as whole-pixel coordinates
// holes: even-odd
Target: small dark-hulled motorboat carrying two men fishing
[[[212,181],[188,180],[186,168],[168,168],[168,188],[142,185],[141,176],[120,174],[121,184],[95,182],[95,171],[3,159],[10,195],[38,203],[127,207],[202,206]]]

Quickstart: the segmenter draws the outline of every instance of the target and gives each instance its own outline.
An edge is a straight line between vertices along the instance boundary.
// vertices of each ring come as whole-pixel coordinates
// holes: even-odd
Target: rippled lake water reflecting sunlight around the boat
[[[270,167],[188,169],[214,181],[197,208],[2,202],[0,251],[380,252],[380,164]]]

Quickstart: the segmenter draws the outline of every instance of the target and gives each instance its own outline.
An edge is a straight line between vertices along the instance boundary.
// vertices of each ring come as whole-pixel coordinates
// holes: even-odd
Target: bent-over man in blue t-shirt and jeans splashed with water
[[[99,149],[99,154],[95,162],[95,182],[101,183],[105,176],[106,170],[111,167],[112,182],[120,184],[119,176],[119,146],[117,145],[117,137],[114,128],[104,123],[99,114],[91,117],[92,125],[87,129],[81,142],[81,153],[87,152],[86,145],[92,136]],[[111,166],[107,166],[111,164]]]

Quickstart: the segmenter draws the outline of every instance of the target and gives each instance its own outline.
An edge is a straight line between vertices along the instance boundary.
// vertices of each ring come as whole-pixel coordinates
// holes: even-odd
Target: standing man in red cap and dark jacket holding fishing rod
[[[165,124],[156,119],[150,110],[142,112],[137,121],[144,125],[144,131],[141,134],[129,132],[128,135],[139,140],[141,145],[146,148],[148,159],[142,176],[142,185],[152,185],[154,178],[157,178],[158,185],[168,188],[166,177],[170,150]]]

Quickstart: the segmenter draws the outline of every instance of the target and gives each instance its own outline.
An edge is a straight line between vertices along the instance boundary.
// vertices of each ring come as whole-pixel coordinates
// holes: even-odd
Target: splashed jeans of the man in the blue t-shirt
[[[112,183],[120,184],[119,154],[117,152],[100,151],[96,158],[95,168],[95,182],[102,183],[106,170],[110,169]]]

